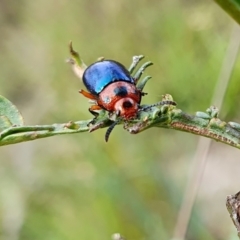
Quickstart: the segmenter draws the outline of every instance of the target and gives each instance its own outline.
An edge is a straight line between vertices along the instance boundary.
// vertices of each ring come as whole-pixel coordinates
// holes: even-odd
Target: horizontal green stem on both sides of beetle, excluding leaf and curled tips
[[[165,95],[163,101],[167,100],[172,100],[172,97]],[[1,132],[0,146],[62,134],[92,132],[99,128],[109,127],[111,124],[109,114],[102,111],[97,118],[92,120],[52,125],[12,126]],[[146,108],[139,112],[137,119],[122,121],[119,124],[123,124],[124,129],[132,134],[140,133],[151,127],[169,128],[208,137],[240,148],[240,124],[221,121],[218,118],[218,109],[215,107],[210,107],[207,112],[190,115],[175,106],[166,104],[161,107]]]

